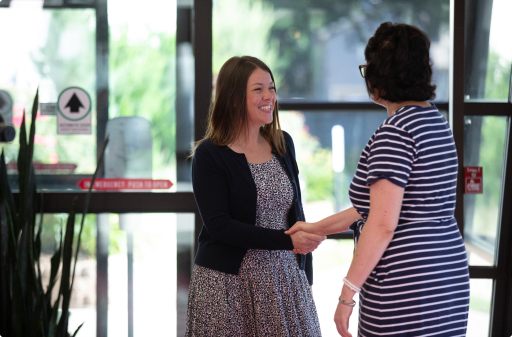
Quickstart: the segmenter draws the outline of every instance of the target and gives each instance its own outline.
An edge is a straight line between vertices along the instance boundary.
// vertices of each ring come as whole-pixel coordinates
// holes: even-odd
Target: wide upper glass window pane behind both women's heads
[[[358,66],[385,21],[414,24],[430,36],[437,100],[447,101],[448,0],[214,1],[213,73],[231,56],[251,55],[272,69],[281,100],[369,101]]]

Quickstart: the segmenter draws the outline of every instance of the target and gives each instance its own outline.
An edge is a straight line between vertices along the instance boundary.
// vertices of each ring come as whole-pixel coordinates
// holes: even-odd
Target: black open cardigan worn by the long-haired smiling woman
[[[286,132],[286,153],[279,159],[293,186],[294,200],[288,225],[305,221],[299,186],[299,169],[293,140]],[[293,243],[283,230],[255,226],[256,184],[243,153],[205,140],[197,147],[192,163],[192,186],[203,228],[195,263],[227,274],[238,275],[248,249],[292,250]],[[297,255],[301,270],[313,284],[312,254]]]

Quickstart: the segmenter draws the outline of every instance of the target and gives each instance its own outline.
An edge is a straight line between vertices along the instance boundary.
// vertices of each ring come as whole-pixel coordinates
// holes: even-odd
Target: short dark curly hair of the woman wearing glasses
[[[368,94],[395,103],[433,100],[429,49],[430,38],[419,28],[382,23],[364,50]]]

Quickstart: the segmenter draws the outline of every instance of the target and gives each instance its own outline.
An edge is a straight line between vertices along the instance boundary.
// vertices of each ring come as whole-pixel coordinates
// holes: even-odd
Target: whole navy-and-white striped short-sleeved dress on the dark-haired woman
[[[404,188],[404,198],[393,238],[361,287],[358,336],[466,335],[469,273],[453,217],[457,165],[435,106],[402,107],[370,138],[349,191],[362,216],[351,226],[356,244],[371,183],[387,179]]]

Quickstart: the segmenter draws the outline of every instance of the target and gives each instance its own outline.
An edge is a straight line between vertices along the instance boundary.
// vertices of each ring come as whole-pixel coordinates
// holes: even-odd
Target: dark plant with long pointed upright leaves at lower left
[[[72,335],[68,332],[69,304],[80,239],[98,168],[87,193],[76,247],[73,250],[75,201],[68,215],[65,232],[62,234],[61,231],[60,240],[51,258],[49,280],[45,282],[39,261],[43,201],[42,195],[36,189],[32,165],[38,101],[39,94],[36,92],[28,140],[25,118],[20,127],[18,200],[15,200],[9,187],[3,151],[0,156],[0,336],[3,337],[76,336],[82,326]],[[107,143],[108,139],[98,162],[103,160]],[[41,215],[39,221],[37,213]],[[59,275],[60,286],[54,289]],[[54,291],[58,293],[57,299],[52,303]]]

